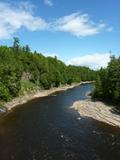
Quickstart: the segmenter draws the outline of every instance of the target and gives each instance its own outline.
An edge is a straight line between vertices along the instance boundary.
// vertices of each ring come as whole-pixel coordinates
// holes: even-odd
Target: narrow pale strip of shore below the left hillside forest
[[[71,84],[71,85],[64,85],[64,86],[60,86],[60,87],[55,87],[55,88],[51,88],[49,90],[37,90],[37,91],[33,91],[31,93],[26,93],[23,96],[19,96],[19,97],[14,98],[10,102],[6,102],[4,104],[4,107],[7,110],[5,113],[7,113],[8,111],[11,111],[13,108],[17,107],[18,105],[22,105],[22,104],[27,103],[30,100],[40,98],[40,97],[49,96],[50,94],[53,94],[55,92],[65,91],[67,89],[74,88],[74,87],[79,86],[81,84],[87,84],[87,83],[92,83],[92,82],[86,81],[86,82],[80,82],[80,83],[75,83],[75,84]],[[3,114],[3,113],[1,113],[1,114]]]

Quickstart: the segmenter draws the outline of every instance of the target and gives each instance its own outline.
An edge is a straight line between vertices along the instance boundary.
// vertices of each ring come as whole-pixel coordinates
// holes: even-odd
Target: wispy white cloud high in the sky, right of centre
[[[57,19],[51,24],[52,30],[69,32],[74,36],[90,36],[100,33],[106,24],[95,24],[90,20],[88,14],[73,13]]]

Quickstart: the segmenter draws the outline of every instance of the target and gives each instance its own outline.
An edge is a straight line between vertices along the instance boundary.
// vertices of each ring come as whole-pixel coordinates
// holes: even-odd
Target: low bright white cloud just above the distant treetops
[[[76,57],[67,62],[69,65],[87,66],[92,69],[99,69],[106,67],[110,61],[110,53],[96,53],[89,54],[81,57]]]

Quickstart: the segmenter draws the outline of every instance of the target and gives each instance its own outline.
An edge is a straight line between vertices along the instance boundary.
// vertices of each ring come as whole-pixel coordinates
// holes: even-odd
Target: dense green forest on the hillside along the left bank
[[[34,89],[49,89],[64,84],[95,79],[87,67],[66,66],[57,57],[45,57],[21,46],[14,38],[12,47],[0,46],[0,101]]]

